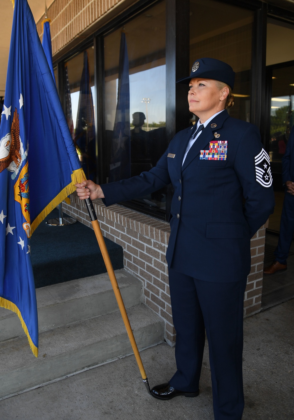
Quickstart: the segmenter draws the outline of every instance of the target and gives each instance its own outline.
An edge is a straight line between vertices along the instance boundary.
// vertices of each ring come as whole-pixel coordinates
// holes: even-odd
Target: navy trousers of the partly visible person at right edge
[[[294,233],[294,195],[285,192],[281,214],[280,236],[274,252],[275,260],[287,264],[287,258]]]

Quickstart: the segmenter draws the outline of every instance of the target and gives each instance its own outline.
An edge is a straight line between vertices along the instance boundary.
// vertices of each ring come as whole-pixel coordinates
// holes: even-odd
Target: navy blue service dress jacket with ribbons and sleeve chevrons
[[[101,185],[103,201],[108,206],[172,183],[168,266],[203,281],[238,281],[250,271],[251,237],[273,213],[269,158],[257,127],[224,110],[208,123],[182,166],[193,131],[179,131],[150,171]],[[227,142],[225,160],[202,159],[216,140]]]

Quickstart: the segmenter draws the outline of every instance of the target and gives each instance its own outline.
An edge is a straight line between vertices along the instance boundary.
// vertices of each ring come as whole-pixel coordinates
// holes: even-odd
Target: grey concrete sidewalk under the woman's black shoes
[[[174,349],[141,353],[150,386],[168,381]],[[42,357],[42,356],[41,356]],[[294,299],[244,320],[243,420],[294,419]],[[0,401],[1,420],[213,420],[207,345],[197,398],[152,398],[129,356]]]

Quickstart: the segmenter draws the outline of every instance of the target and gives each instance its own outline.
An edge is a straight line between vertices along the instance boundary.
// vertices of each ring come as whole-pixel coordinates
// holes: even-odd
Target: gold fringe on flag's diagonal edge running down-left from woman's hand
[[[45,217],[52,212],[53,209],[55,209],[58,204],[60,204],[66,197],[68,197],[69,194],[72,194],[74,191],[76,191],[75,184],[80,184],[82,181],[86,179],[85,173],[82,168],[76,169],[76,171],[73,171],[71,174],[71,183],[68,184],[63,190],[60,191],[59,194],[53,200],[37,215],[37,217],[32,221],[31,224],[31,236],[33,232],[36,230],[36,228],[39,226],[39,224],[42,222],[42,220],[45,219]]]

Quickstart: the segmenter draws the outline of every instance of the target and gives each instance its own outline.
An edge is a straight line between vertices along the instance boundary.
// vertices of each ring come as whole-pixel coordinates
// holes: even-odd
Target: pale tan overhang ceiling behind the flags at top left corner
[[[32,10],[35,22],[45,12],[45,0],[27,0]],[[46,0],[47,8],[54,0]],[[0,43],[0,96],[4,96],[5,82],[10,47],[11,27],[13,19],[13,6],[11,0],[1,0],[1,43]]]

